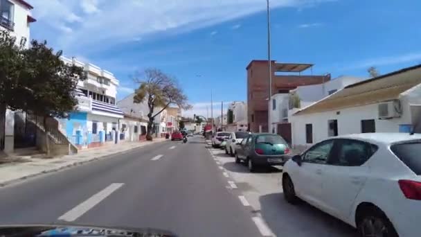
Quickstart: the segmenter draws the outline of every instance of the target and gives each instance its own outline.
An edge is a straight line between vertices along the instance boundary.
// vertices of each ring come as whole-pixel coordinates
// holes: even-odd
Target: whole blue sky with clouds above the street
[[[29,0],[31,37],[113,72],[118,98],[148,67],[176,76],[206,116],[246,100],[247,64],[267,58],[265,0]],[[421,63],[419,0],[271,0],[272,59],[367,76]],[[198,77],[197,75],[201,75]],[[217,109],[218,114],[220,108]],[[216,113],[216,112],[215,112]]]

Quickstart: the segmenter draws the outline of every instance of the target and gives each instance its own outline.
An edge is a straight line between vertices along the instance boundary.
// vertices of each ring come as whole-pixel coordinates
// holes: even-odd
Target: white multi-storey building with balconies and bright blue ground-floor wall
[[[109,71],[75,58],[61,58],[66,64],[84,68],[86,80],[78,82],[78,107],[68,119],[59,119],[66,137],[79,147],[98,146],[105,141],[124,139],[118,133],[123,112],[116,106],[118,80]],[[82,137],[80,137],[82,136]]]

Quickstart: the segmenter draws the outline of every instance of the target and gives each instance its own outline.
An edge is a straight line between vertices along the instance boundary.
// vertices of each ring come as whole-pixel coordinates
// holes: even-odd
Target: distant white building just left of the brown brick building
[[[237,132],[247,131],[247,103],[244,101],[234,101],[228,107],[226,131]]]

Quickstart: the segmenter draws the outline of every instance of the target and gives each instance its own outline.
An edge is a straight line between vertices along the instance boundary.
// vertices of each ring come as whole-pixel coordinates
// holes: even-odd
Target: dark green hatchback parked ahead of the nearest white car
[[[257,166],[283,166],[289,159],[288,143],[278,134],[250,134],[236,145],[235,163],[247,162],[250,172]]]

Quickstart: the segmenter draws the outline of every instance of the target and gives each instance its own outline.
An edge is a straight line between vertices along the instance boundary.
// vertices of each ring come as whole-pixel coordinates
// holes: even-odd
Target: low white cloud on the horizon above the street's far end
[[[226,114],[226,109],[231,102],[224,101],[224,109],[222,109],[223,113]],[[200,102],[200,103],[192,103],[192,109],[190,110],[183,110],[181,112],[182,116],[192,118],[194,114],[201,115],[201,116],[208,116],[209,118],[213,114],[213,117],[217,117],[221,115],[221,101],[213,102],[213,106],[211,106],[211,102]],[[213,108],[213,113],[212,109]]]

